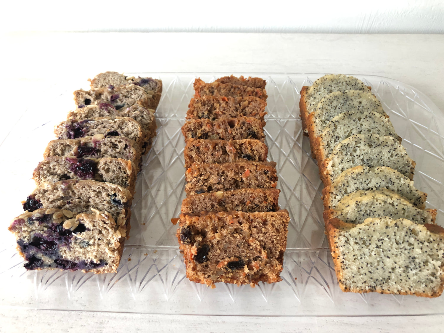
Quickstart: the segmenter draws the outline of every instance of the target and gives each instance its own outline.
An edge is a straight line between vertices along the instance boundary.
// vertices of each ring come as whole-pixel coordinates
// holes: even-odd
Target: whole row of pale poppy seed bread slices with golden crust
[[[324,221],[341,289],[439,296],[444,229],[413,185],[415,162],[362,81],[303,87],[301,119],[324,183]]]

